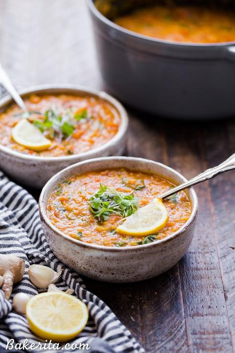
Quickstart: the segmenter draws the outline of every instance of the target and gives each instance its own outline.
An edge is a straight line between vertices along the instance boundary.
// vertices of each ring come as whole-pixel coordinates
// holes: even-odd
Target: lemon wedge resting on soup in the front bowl
[[[144,236],[154,234],[168,223],[168,212],[159,198],[147,206],[139,208],[116,228],[116,232],[124,235]]]

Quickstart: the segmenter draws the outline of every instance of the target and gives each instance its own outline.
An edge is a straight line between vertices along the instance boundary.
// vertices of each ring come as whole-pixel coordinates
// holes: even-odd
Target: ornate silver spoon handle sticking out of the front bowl
[[[216,175],[223,173],[227,170],[231,170],[231,169],[235,169],[235,153],[233,153],[233,155],[231,155],[228,159],[226,159],[224,162],[219,164],[217,167],[205,170],[203,173],[197,175],[197,177],[195,177],[195,178],[193,178],[193,179],[191,179],[191,180],[189,180],[179,186],[176,186],[173,189],[170,189],[170,190],[164,192],[163,194],[161,194],[158,197],[162,198],[162,199],[169,197],[169,196],[175,194],[176,192],[179,192],[183,189],[189,188],[190,186],[193,186],[195,184],[202,183],[205,180],[212,179],[212,178],[216,177]]]

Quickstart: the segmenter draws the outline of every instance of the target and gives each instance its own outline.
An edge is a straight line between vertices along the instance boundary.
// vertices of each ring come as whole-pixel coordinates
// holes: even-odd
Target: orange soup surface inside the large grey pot
[[[115,23],[149,37],[192,43],[235,40],[235,12],[196,6],[154,6],[116,18]]]

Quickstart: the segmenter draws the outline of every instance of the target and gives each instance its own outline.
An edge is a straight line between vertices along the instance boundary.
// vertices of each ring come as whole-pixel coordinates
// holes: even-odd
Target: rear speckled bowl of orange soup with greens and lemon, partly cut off
[[[77,85],[43,85],[21,96],[27,114],[10,97],[0,101],[0,167],[17,182],[42,188],[69,165],[122,154],[128,117],[108,94]],[[46,143],[31,145],[38,135]]]

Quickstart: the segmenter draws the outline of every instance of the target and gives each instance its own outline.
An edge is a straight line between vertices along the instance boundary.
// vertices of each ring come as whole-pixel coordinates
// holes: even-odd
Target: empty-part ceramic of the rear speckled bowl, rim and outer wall
[[[38,157],[14,151],[0,145],[0,169],[5,171],[15,181],[34,188],[42,188],[43,185],[58,171],[80,161],[90,158],[119,156],[125,148],[126,132],[128,127],[127,113],[116,99],[105,92],[89,89],[87,87],[68,84],[50,84],[31,87],[19,92],[22,97],[29,94],[72,94],[90,95],[98,97],[113,106],[121,117],[121,124],[117,134],[98,148],[91,149],[79,155],[64,157]],[[12,99],[7,96],[0,100],[0,112],[2,113],[10,104]]]

